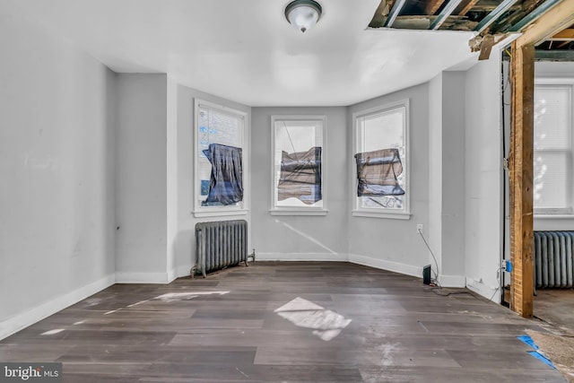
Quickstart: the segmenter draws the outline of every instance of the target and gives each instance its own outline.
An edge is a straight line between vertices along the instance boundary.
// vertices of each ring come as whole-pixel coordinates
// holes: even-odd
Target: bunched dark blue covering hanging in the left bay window
[[[233,205],[243,199],[241,148],[209,144],[204,151],[212,164],[209,193],[202,205]]]

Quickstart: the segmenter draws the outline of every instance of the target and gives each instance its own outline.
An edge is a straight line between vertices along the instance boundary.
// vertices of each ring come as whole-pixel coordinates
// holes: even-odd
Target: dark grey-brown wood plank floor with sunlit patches
[[[114,285],[4,339],[0,361],[61,361],[65,382],[563,382],[526,328],[544,331],[409,276],[257,262]]]

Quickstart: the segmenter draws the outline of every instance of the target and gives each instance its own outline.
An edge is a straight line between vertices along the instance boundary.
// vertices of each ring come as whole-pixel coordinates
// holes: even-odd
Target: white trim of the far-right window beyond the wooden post
[[[570,155],[574,161],[574,77],[537,77],[535,86],[570,86]],[[574,169],[574,163],[570,164],[570,170]],[[574,205],[574,180],[570,180],[570,204]],[[572,219],[574,218],[574,206],[566,208],[534,208],[533,213],[536,219]]]

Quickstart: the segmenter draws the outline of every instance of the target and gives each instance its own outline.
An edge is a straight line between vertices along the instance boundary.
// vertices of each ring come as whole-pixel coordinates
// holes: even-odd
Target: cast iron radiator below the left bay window
[[[230,265],[248,265],[248,222],[244,220],[196,223],[196,272],[205,274]]]

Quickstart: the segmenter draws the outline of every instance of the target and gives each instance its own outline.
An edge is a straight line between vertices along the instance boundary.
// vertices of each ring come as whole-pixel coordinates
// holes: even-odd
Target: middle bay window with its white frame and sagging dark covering
[[[325,116],[274,116],[272,214],[326,214]]]

